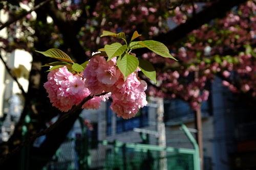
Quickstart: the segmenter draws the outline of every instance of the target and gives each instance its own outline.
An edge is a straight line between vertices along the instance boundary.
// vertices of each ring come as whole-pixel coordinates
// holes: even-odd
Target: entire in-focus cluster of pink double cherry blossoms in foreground
[[[66,66],[51,70],[44,86],[52,105],[61,111],[69,111],[88,95],[109,92],[94,96],[82,108],[98,109],[101,101],[112,95],[111,109],[118,117],[131,118],[147,104],[147,84],[138,78],[138,71],[139,68],[124,81],[116,66],[116,58],[107,62],[104,57],[95,56],[80,75],[72,74]]]

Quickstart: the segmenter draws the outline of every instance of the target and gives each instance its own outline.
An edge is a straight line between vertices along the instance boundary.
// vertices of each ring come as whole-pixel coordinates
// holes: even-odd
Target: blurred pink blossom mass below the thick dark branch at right
[[[207,82],[219,76],[223,85],[233,93],[247,93],[255,98],[256,49],[253,44],[256,43],[256,16],[253,14],[256,5],[248,1],[238,10],[240,12],[231,11],[225,18],[189,33],[188,38],[182,40],[182,45],[169,46],[172,55],[179,60],[177,63],[144,54],[143,58],[165,66],[165,70],[157,72],[158,85],[165,91],[151,86],[148,94],[180,98],[197,110],[209,96]],[[179,25],[185,22],[191,11],[177,7],[172,12],[172,20]]]

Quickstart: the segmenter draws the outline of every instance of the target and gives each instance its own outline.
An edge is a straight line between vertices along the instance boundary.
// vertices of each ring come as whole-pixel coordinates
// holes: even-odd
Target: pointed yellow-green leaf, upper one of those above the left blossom
[[[36,52],[41,53],[46,57],[55,58],[57,60],[65,61],[68,63],[74,63],[74,61],[72,61],[72,59],[66,53],[62,52],[57,48],[51,48],[45,52],[39,52],[39,51],[36,51]]]

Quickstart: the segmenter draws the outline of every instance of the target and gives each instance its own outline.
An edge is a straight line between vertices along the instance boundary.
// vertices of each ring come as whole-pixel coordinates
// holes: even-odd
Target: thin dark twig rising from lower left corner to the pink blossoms
[[[103,92],[101,94],[95,95],[95,96],[100,96],[100,95],[105,95],[108,92]],[[51,132],[53,129],[55,129],[57,126],[59,126],[59,124],[67,119],[68,117],[70,117],[71,115],[73,115],[76,111],[78,111],[79,109],[81,109],[82,105],[84,103],[86,103],[87,101],[89,101],[90,99],[92,99],[94,96],[93,95],[89,95],[86,98],[84,98],[78,105],[74,106],[69,112],[67,112],[66,114],[63,114],[61,117],[58,118],[58,120],[52,124],[51,126],[49,126],[48,128],[46,128],[45,130],[42,130],[36,134],[34,134],[33,136],[30,136],[27,140],[25,140],[23,143],[21,143],[20,145],[18,145],[14,150],[12,150],[9,154],[3,156],[0,159],[0,164],[2,164],[3,162],[5,162],[7,159],[9,159],[11,156],[13,156],[14,154],[16,154],[20,149],[22,149],[23,147],[25,147],[26,145],[28,145],[29,143],[31,143],[32,141],[34,141],[36,138],[46,135],[47,133]]]

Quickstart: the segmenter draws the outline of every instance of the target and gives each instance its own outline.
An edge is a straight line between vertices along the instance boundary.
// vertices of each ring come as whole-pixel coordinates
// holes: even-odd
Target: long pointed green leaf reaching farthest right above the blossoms
[[[172,55],[170,55],[169,50],[167,46],[165,46],[163,43],[154,41],[154,40],[145,40],[138,42],[138,44],[147,47],[151,51],[155,52],[156,54],[166,57],[166,58],[172,58],[176,60]],[[177,60],[176,60],[177,61]]]

